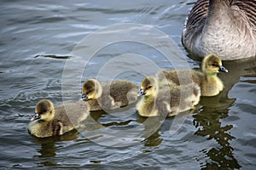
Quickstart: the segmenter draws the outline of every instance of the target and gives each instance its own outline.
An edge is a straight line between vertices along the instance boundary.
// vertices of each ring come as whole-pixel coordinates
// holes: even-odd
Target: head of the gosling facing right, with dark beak
[[[203,59],[202,71],[207,75],[215,75],[219,71],[228,72],[228,70],[222,65],[221,59],[215,54],[209,54]]]

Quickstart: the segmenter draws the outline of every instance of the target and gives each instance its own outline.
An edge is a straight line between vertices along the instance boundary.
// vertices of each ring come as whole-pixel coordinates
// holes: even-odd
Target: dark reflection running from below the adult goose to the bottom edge
[[[224,82],[224,91],[215,97],[203,97],[200,104],[202,110],[194,115],[194,125],[197,128],[195,135],[207,137],[208,140],[215,140],[217,147],[211,149],[202,149],[201,152],[206,154],[211,161],[206,161],[202,169],[236,169],[241,165],[236,160],[230,144],[232,139],[231,124],[223,125],[221,120],[229,116],[229,108],[234,105],[236,99],[229,99],[230,89],[240,82],[241,77],[256,76],[255,57],[250,59],[240,59],[236,61],[224,61],[224,65],[230,71],[229,75],[220,75]]]

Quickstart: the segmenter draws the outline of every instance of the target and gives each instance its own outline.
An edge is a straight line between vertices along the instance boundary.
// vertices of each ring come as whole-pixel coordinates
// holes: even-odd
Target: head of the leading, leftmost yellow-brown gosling
[[[32,116],[31,121],[41,120],[50,121],[55,116],[55,106],[49,99],[42,99],[38,102],[35,115]]]

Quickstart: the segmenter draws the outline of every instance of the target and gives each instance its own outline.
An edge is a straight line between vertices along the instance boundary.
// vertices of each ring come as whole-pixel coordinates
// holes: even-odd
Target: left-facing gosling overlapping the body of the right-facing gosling
[[[137,104],[140,116],[175,116],[194,109],[199,103],[201,91],[196,83],[172,87],[155,77],[145,77],[138,95],[143,95]]]

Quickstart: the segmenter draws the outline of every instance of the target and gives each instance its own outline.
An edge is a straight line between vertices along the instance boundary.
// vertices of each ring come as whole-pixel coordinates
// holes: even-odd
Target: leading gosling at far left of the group
[[[49,99],[42,99],[38,102],[35,115],[27,129],[38,138],[62,135],[80,127],[87,116],[89,116],[89,106],[84,102],[55,107]]]

